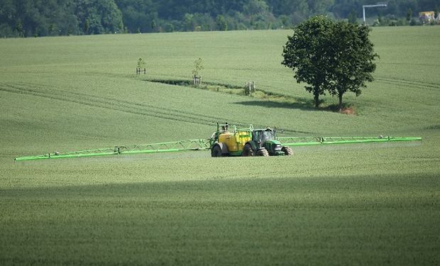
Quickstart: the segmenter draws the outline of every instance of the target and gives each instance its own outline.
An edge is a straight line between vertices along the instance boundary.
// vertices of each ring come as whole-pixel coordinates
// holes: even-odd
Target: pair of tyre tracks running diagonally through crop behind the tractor
[[[219,116],[208,116],[200,113],[182,111],[179,109],[170,109],[151,104],[142,104],[121,99],[114,99],[106,96],[70,92],[62,89],[56,89],[55,87],[35,87],[35,84],[0,84],[0,91],[38,96],[45,99],[54,99],[57,101],[82,104],[84,106],[108,109],[111,111],[121,111],[123,113],[132,113],[141,116],[150,116],[170,121],[196,123],[203,126],[213,126],[218,121],[229,121],[237,126],[248,126],[248,123],[243,123],[243,121],[234,121]],[[283,129],[283,131],[287,133],[309,133],[287,128]]]

